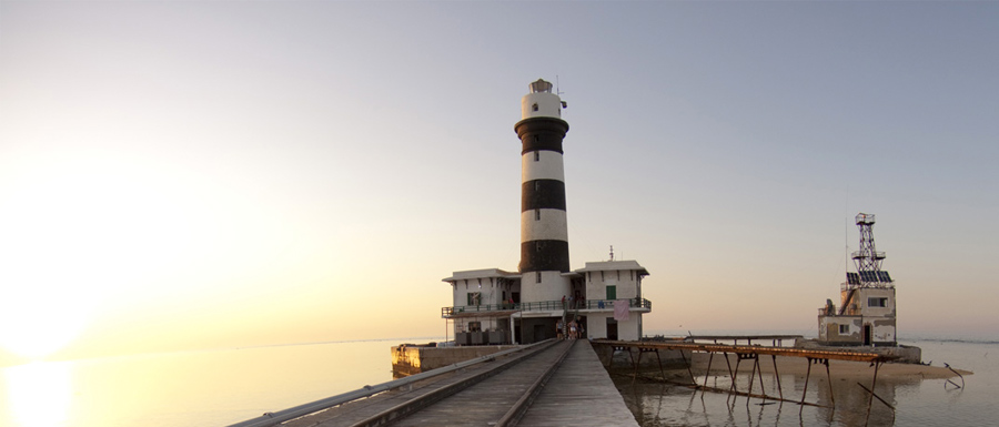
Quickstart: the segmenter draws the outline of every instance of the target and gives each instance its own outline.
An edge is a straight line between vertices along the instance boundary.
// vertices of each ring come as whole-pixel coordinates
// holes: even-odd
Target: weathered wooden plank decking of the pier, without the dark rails
[[[503,417],[514,403],[567,347],[565,360],[519,420],[518,426],[638,426],[620,394],[589,345],[588,340],[558,342],[555,345],[511,365],[503,372],[474,384],[457,394],[424,407],[393,426],[490,426]],[[502,363],[496,360],[493,365]],[[491,365],[484,364],[484,365]],[[283,424],[284,426],[351,426],[387,410],[414,395],[446,387],[483,366],[448,378],[351,403]]]

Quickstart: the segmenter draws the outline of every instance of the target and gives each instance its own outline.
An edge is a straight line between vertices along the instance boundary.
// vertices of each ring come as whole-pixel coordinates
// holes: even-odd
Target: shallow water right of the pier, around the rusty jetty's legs
[[[791,401],[763,400],[725,393],[702,393],[677,385],[633,379],[616,375],[614,382],[642,426],[982,426],[993,425],[999,410],[999,343],[915,340],[902,344],[922,348],[924,360],[944,362],[971,370],[965,387],[946,384],[946,379],[878,378],[875,394],[887,405],[871,400],[857,383],[870,387],[871,377],[833,377],[833,392],[824,373],[813,375],[801,406]],[[990,358],[991,355],[991,358]],[[698,373],[695,372],[695,375]],[[746,373],[748,374],[748,373]],[[686,373],[684,372],[684,375]],[[699,373],[698,383],[704,382]],[[749,375],[739,374],[737,388],[748,389]],[[959,378],[953,378],[961,384]],[[764,389],[778,396],[777,377],[764,374]],[[728,376],[709,377],[708,385],[727,389]],[[945,387],[946,386],[946,387]],[[780,375],[780,392],[789,400],[800,400],[805,392],[804,375]],[[754,393],[759,393],[759,379]],[[835,405],[834,405],[835,400]],[[868,418],[868,408],[870,415]]]

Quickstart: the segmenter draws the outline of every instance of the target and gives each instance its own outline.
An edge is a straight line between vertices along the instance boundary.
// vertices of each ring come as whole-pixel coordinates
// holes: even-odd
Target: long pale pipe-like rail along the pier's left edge
[[[466,368],[468,366],[472,366],[472,365],[475,365],[478,363],[493,360],[498,356],[505,356],[505,355],[508,355],[512,353],[523,352],[528,348],[534,348],[542,344],[548,344],[551,340],[552,339],[546,339],[546,340],[543,340],[539,343],[525,345],[523,347],[511,348],[511,349],[506,349],[503,352],[488,354],[485,356],[476,357],[474,359],[456,363],[451,366],[445,366],[445,367],[428,370],[425,373],[411,375],[405,378],[393,379],[391,382],[377,384],[374,386],[364,386],[364,387],[359,388],[353,392],[347,392],[347,393],[339,394],[336,396],[326,397],[324,399],[320,399],[320,400],[315,400],[315,401],[312,401],[309,404],[299,405],[299,406],[295,406],[292,408],[279,410],[276,413],[264,413],[264,415],[261,415],[256,418],[248,419],[245,421],[241,421],[241,423],[236,423],[236,424],[231,424],[231,425],[229,425],[229,427],[270,427],[270,426],[275,426],[278,424],[281,424],[281,423],[284,423],[287,420],[292,420],[292,419],[295,419],[299,417],[303,417],[309,414],[317,413],[323,409],[332,408],[334,406],[342,405],[342,404],[345,404],[351,400],[356,400],[356,399],[372,396],[372,395],[375,395],[379,393],[389,392],[393,388],[398,388],[398,387],[403,387],[403,386],[410,385],[410,384],[418,382],[418,380],[433,378],[437,375],[447,374],[447,373],[451,373],[451,372],[454,372],[457,369]]]

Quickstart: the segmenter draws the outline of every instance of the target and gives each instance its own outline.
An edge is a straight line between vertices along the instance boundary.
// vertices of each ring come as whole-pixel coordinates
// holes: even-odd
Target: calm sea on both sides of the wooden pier
[[[0,370],[0,426],[224,426],[392,379],[390,346],[433,338],[327,343],[36,363]],[[911,339],[924,360],[975,372],[966,387],[942,379],[878,382],[870,425],[980,426],[999,420],[999,342]],[[804,378],[785,378],[800,396]],[[769,379],[768,379],[769,380]],[[790,382],[790,383],[788,383]],[[960,383],[960,382],[958,382]],[[809,401],[827,389],[809,385]],[[837,392],[837,409],[758,405],[682,387],[630,385],[622,394],[644,426],[862,425],[867,398]],[[813,393],[815,395],[813,395]],[[747,405],[748,401],[748,405]],[[859,417],[859,418],[858,418]]]

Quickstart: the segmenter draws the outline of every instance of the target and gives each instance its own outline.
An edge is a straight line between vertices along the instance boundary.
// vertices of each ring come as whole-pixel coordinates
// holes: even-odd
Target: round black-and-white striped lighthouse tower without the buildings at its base
[[[568,226],[562,140],[565,103],[552,83],[538,79],[521,99],[521,293],[524,302],[569,295]]]

